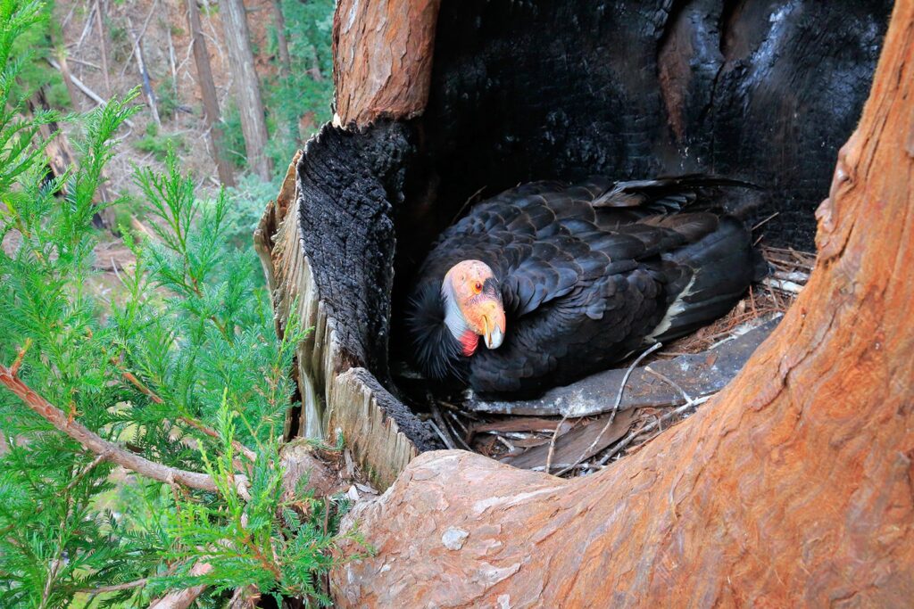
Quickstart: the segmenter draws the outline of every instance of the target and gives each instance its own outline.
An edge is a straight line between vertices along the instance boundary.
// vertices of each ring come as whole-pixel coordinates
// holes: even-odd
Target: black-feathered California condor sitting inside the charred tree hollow
[[[416,362],[478,394],[542,393],[730,310],[759,268],[731,180],[524,184],[439,237],[409,299]],[[482,340],[481,340],[482,339]]]

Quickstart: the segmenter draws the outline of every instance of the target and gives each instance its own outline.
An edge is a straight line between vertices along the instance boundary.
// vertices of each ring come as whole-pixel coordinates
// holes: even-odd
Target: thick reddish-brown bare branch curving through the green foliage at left
[[[67,436],[70,436],[96,455],[104,455],[104,458],[112,463],[159,482],[168,484],[177,482],[190,488],[199,488],[210,492],[218,491],[216,481],[208,474],[169,467],[134,455],[124,450],[121,446],[102,438],[85,425],[81,425],[76,421],[69,421],[67,413],[38,395],[26,383],[23,383],[11,368],[0,365],[0,383],[16,394],[37,415],[42,416],[48,423],[57,427],[59,431],[67,434]],[[238,478],[242,477],[239,476]],[[247,478],[244,478],[246,482]]]

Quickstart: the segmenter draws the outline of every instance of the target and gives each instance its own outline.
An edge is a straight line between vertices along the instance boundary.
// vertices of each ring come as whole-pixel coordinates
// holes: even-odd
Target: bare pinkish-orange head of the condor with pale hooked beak
[[[467,357],[476,351],[480,336],[489,349],[497,349],[505,338],[505,309],[501,295],[486,287],[490,279],[494,273],[484,262],[463,260],[447,272],[441,284],[444,322]]]

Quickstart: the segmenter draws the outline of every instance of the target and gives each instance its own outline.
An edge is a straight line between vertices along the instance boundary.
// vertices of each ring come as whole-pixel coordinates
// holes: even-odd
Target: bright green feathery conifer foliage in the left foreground
[[[341,506],[280,492],[287,371],[304,332],[276,338],[256,257],[235,245],[250,228],[230,199],[242,191],[197,198],[166,147],[164,174],[136,173],[143,199],[133,205],[154,238],[125,233],[135,265],[103,296],[92,200],[136,91],[72,117],[78,164],[48,179],[37,129],[58,117],[25,118],[13,86],[25,61],[17,38],[41,26],[42,10],[0,0],[0,363],[21,355],[18,376],[74,420],[165,466],[208,472],[218,491],[115,469],[0,388],[0,606],[145,606],[193,581],[199,559],[214,567],[201,580],[214,585],[205,603],[246,583],[323,602],[319,575],[345,560]],[[234,484],[242,472],[250,500]],[[85,592],[140,578],[149,583]]]

